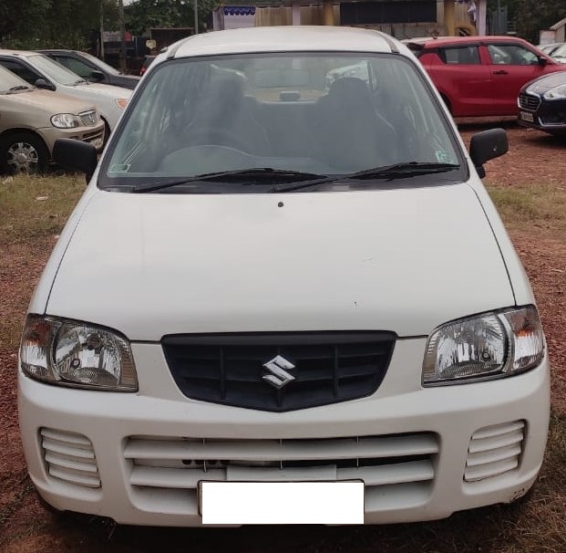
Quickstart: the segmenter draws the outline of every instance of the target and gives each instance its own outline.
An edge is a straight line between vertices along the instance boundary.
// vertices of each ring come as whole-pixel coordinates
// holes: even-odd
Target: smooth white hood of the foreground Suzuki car
[[[50,315],[129,339],[190,332],[383,329],[427,335],[513,305],[466,184],[348,193],[94,193]]]

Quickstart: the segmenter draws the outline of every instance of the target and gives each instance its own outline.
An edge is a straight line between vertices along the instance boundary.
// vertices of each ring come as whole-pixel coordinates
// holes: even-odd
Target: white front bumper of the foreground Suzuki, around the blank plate
[[[136,394],[20,374],[29,474],[57,509],[151,526],[201,526],[203,480],[362,479],[366,524],[443,518],[523,495],[547,439],[548,361],[507,379],[423,389],[424,347],[398,340],[371,397],[283,413],[188,400],[152,344],[133,346]]]

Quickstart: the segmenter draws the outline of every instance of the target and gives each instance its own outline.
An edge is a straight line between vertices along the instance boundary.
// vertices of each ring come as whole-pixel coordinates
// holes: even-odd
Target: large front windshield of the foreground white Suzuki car
[[[431,182],[465,174],[455,131],[426,80],[415,62],[392,54],[165,61],[116,132],[98,181],[113,190],[164,183],[173,193],[218,193],[223,173],[231,191],[246,192],[262,185],[267,192],[273,183],[327,185],[330,175],[369,186],[367,174],[429,173]],[[354,176],[383,167],[400,169]],[[190,185],[183,188],[183,179]]]

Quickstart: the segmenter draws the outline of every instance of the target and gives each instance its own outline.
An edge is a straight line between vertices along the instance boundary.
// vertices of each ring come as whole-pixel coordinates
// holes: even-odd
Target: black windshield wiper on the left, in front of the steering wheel
[[[199,181],[234,181],[240,179],[252,179],[252,181],[264,183],[265,180],[273,181],[273,179],[293,179],[293,183],[297,181],[311,182],[315,178],[321,178],[322,175],[313,172],[292,171],[287,169],[272,169],[271,167],[253,167],[248,169],[238,169],[235,171],[207,172],[197,174],[185,179],[177,179],[174,181],[161,181],[156,183],[143,183],[134,186],[132,193],[156,192],[171,188],[172,186],[180,186],[181,184],[198,183]],[[252,184],[252,183],[244,183]]]

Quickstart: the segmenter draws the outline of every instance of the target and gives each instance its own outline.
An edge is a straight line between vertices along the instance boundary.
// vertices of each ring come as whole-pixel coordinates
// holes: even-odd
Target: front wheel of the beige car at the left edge
[[[0,172],[45,172],[49,151],[33,132],[14,132],[0,139]]]

